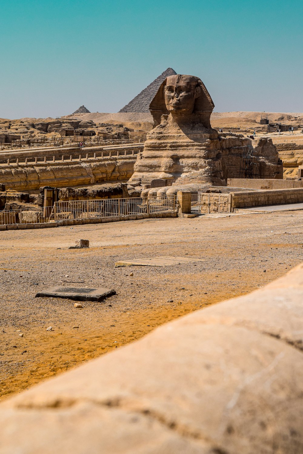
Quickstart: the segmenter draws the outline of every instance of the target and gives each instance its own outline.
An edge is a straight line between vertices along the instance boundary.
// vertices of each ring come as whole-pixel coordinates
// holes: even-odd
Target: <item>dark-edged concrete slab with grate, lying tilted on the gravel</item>
[[[66,298],[74,301],[102,301],[116,292],[109,288],[88,288],[88,287],[64,287],[55,286],[39,291],[36,297],[48,296],[53,298]]]

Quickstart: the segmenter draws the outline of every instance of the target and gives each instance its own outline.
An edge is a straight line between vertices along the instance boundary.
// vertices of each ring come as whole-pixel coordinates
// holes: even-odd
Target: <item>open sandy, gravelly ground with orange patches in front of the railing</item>
[[[302,221],[303,212],[281,212],[0,232],[1,399],[281,276],[303,261]],[[68,249],[78,238],[90,248]],[[206,260],[114,268],[161,255]],[[35,298],[58,284],[105,286],[117,295],[82,309]]]

